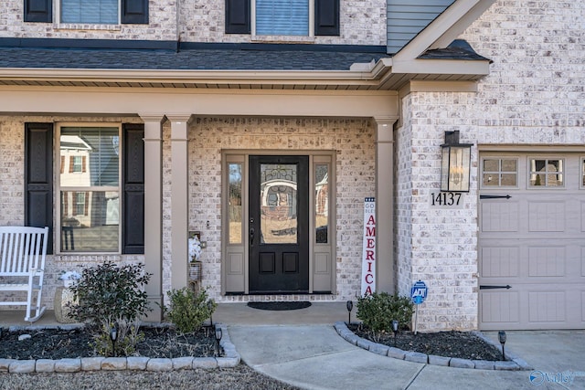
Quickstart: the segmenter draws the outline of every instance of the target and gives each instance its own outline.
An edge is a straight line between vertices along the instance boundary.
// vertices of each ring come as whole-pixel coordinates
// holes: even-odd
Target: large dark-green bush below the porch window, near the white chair
[[[70,289],[75,300],[68,304],[69,316],[86,322],[94,334],[94,348],[102,355],[127,356],[141,339],[138,333],[140,318],[152,309],[144,286],[151,275],[143,264],[117,266],[105,262],[83,269],[81,279]],[[116,328],[116,350],[113,351],[110,332]]]

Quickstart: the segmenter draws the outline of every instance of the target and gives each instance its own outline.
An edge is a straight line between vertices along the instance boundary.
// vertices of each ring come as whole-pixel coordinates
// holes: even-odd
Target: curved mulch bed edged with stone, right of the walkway
[[[359,337],[390,347],[396,346],[403,351],[470,360],[502,360],[502,353],[494,345],[486,343],[472,332],[399,332],[394,339],[392,332],[382,332],[379,337],[373,337],[373,332],[363,324],[350,324],[348,328]]]

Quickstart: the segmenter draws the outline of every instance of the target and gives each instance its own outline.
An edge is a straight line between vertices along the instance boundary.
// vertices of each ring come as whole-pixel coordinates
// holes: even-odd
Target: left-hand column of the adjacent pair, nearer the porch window
[[[163,114],[141,114],[144,121],[144,270],[153,276],[145,287],[145,321],[162,321],[163,305]]]

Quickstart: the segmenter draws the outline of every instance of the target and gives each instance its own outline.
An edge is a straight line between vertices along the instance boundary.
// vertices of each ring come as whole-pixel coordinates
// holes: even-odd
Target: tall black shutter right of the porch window
[[[122,253],[144,253],[144,125],[126,123],[122,139]]]

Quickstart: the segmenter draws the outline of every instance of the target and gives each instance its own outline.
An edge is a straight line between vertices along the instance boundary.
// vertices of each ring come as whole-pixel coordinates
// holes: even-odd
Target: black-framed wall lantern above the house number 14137
[[[441,191],[469,192],[473,143],[459,143],[459,131],[445,132],[441,145]]]

